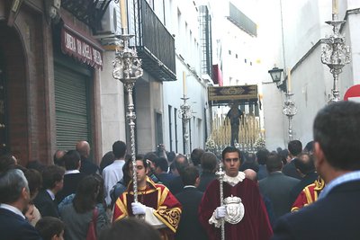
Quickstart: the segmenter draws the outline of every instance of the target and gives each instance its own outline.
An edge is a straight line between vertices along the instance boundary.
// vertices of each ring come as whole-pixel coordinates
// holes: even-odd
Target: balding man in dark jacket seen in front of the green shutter
[[[86,175],[100,173],[99,167],[90,161],[90,145],[86,141],[79,141],[76,143],[76,151],[81,156],[80,172]]]

